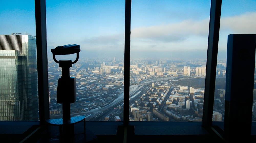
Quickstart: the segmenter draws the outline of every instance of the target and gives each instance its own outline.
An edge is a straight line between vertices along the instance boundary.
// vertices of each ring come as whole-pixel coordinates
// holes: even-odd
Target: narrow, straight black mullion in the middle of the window
[[[124,35],[124,125],[129,124],[130,96],[130,42],[131,42],[131,0],[125,1],[125,35]]]

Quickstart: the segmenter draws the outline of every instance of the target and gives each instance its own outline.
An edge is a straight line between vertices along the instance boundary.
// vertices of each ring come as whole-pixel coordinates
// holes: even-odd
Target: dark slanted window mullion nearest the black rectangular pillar
[[[212,111],[214,104],[214,91],[216,79],[216,65],[220,31],[221,0],[211,1],[208,50],[205,77],[205,96],[202,125],[212,125]]]

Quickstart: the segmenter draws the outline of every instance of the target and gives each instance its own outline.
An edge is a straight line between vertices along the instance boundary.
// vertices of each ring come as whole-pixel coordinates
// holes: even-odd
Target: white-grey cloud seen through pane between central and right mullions
[[[209,19],[185,20],[180,23],[138,27],[131,30],[132,39],[151,39],[163,42],[183,41],[191,35],[208,36]]]

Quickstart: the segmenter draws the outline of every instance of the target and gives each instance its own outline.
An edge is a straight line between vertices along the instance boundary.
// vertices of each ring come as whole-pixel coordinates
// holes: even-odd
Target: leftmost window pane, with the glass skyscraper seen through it
[[[38,121],[35,3],[1,2],[0,17],[0,121]]]

